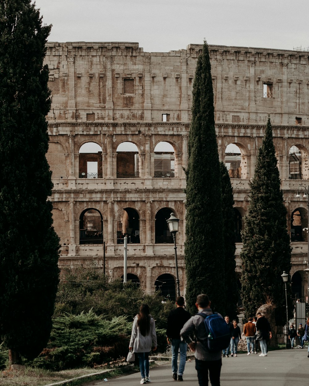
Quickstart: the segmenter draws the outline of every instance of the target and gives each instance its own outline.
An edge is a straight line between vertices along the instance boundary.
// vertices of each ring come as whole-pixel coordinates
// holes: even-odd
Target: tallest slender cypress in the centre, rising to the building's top
[[[185,264],[188,309],[192,314],[195,313],[196,296],[207,293],[212,308],[224,313],[221,178],[211,64],[206,42],[195,70],[186,176]]]

